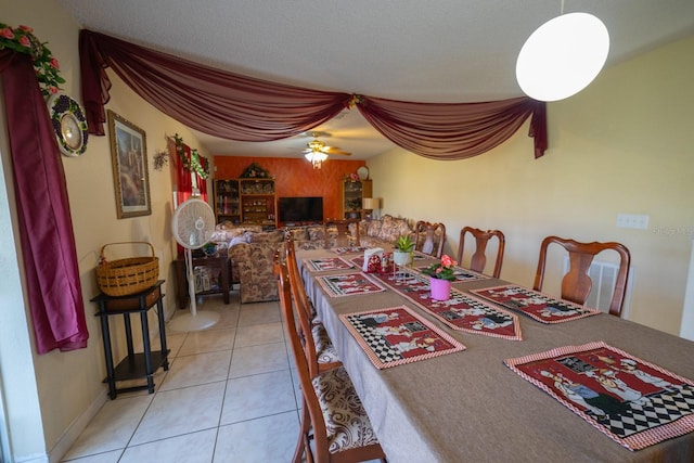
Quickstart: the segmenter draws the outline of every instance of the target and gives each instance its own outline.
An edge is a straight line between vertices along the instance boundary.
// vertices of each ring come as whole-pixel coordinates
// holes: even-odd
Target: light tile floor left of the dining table
[[[169,330],[170,368],[156,373],[155,393],[108,400],[62,461],[290,462],[300,391],[279,304],[231,297],[198,305],[220,313],[215,326]]]

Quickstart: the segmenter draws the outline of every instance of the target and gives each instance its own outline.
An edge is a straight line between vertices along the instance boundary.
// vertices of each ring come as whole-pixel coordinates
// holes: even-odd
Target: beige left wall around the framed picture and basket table
[[[0,21],[15,27],[18,25],[30,26],[41,41],[48,42],[53,55],[60,61],[61,75],[66,79],[66,83],[63,86],[64,91],[73,98],[81,100],[78,59],[79,25],[67,16],[53,0],[24,0],[22,2],[0,0],[0,11],[2,11]],[[113,75],[112,80],[114,81],[111,92],[112,99],[106,107],[142,128],[146,133],[152,215],[120,220],[116,218],[108,137],[90,137],[87,152],[81,157],[61,157],[65,168],[90,338],[87,349],[72,352],[52,351],[37,356],[30,325],[27,325],[26,322],[26,319],[29,318],[28,308],[23,307],[24,301],[21,300],[21,296],[10,294],[9,290],[5,291],[7,285],[0,285],[3,311],[15,311],[12,314],[4,313],[2,323],[12,317],[14,323],[24,329],[24,344],[30,347],[30,357],[25,358],[24,364],[29,368],[31,363],[34,364],[34,371],[30,369],[28,372],[17,371],[17,365],[12,364],[8,359],[17,355],[26,356],[27,349],[18,351],[22,348],[21,344],[15,343],[16,347],[3,344],[3,351],[0,355],[3,388],[5,393],[8,389],[20,393],[23,389],[38,389],[39,419],[42,422],[42,429],[39,426],[35,428],[35,432],[27,433],[25,421],[35,419],[36,415],[29,413],[29,416],[26,416],[25,406],[16,400],[14,400],[14,404],[7,403],[8,422],[11,439],[13,439],[11,441],[12,450],[17,460],[37,458],[46,452],[51,452],[52,461],[62,456],[63,452],[67,450],[64,447],[76,437],[72,434],[80,430],[80,420],[85,420],[85,414],[91,413],[92,409],[98,408],[105,399],[105,386],[102,384],[102,380],[105,377],[105,363],[101,330],[99,319],[93,317],[95,306],[89,301],[99,293],[94,267],[104,244],[123,241],[151,242],[160,261],[160,278],[167,281],[164,286],[167,314],[170,316],[175,309],[175,291],[170,285],[174,279],[170,262],[176,253],[170,229],[174,210],[171,179],[168,168],[163,171],[154,170],[152,159],[155,152],[167,149],[166,136],[174,136],[177,132],[192,147],[200,150],[201,146],[197,145],[196,139],[189,129],[144,103]],[[4,121],[0,119],[0,123],[4,127]],[[0,151],[2,152],[4,177],[8,178],[11,176],[11,164],[5,138],[1,140]],[[204,150],[200,150],[200,152],[203,155],[207,154]],[[209,158],[211,159],[211,156]],[[11,179],[8,180],[11,182]],[[0,190],[5,194],[5,189],[11,183],[5,182],[4,179],[0,179],[0,183],[2,183]],[[14,200],[11,189],[7,191],[7,194],[10,196],[10,207],[13,208]],[[2,207],[1,201],[0,207]],[[16,233],[16,226],[14,230]],[[18,246],[20,240],[16,235],[15,241]],[[133,249],[124,249],[125,255],[120,257],[132,256],[134,252]],[[11,274],[12,270],[16,273],[17,263],[3,259],[0,263],[0,270],[3,274]],[[14,304],[5,305],[4,301],[13,301]],[[154,321],[154,311],[151,311],[150,316]],[[116,348],[114,360],[117,362],[126,352],[121,319],[113,320],[111,325],[113,344]],[[139,323],[133,319],[133,327],[136,326],[139,326]],[[150,323],[150,327],[155,330],[156,323]],[[27,338],[26,336],[31,337]],[[138,339],[139,330],[133,331],[133,336]],[[16,350],[8,351],[8,349]],[[9,378],[12,378],[12,385],[7,385]],[[25,382],[24,386],[22,386],[22,382]],[[17,395],[21,398],[20,393],[12,398],[16,399]],[[8,402],[10,402],[9,399]],[[41,436],[41,430],[43,436]]]

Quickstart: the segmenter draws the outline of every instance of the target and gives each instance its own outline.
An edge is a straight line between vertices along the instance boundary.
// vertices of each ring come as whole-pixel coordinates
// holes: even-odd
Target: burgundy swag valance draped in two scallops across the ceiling
[[[544,154],[545,103],[529,98],[484,103],[413,103],[310,90],[241,76],[103,34],[79,37],[82,100],[89,131],[103,136],[111,67],[150,104],[202,132],[272,141],[320,126],[357,106],[385,138],[433,159],[462,159],[507,140],[531,116],[535,157]]]

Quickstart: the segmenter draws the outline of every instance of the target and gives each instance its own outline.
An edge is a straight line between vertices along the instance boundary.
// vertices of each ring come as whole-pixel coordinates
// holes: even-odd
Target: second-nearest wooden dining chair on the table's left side
[[[284,257],[287,267],[290,287],[294,304],[297,306],[299,330],[308,355],[311,356],[311,377],[321,372],[342,365],[342,360],[333,346],[333,342],[325,331],[325,326],[316,318],[316,311],[310,303],[296,260],[294,239],[287,234],[284,240]],[[314,357],[314,358],[313,358]]]

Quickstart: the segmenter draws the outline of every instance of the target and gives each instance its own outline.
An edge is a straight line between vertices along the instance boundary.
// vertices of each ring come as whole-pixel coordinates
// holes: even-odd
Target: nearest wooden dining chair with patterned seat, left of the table
[[[297,307],[295,310],[292,305],[292,284],[286,262],[278,262],[275,268],[280,306],[299,378],[303,409],[308,417],[301,421],[293,463],[301,462],[304,454],[308,463],[375,459],[385,462],[385,453],[347,371],[339,366],[311,376],[309,363],[313,360],[297,331],[295,312],[298,314],[300,309]]]

